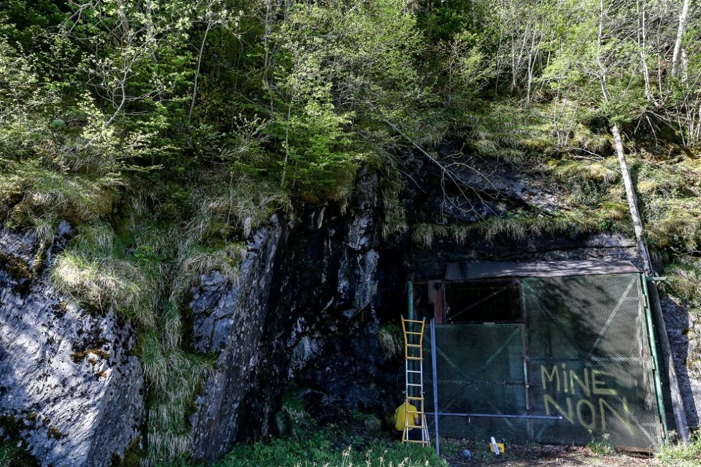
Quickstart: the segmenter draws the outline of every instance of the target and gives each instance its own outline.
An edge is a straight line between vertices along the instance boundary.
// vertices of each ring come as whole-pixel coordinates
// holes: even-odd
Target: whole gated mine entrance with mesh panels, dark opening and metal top
[[[468,263],[416,287],[416,313],[433,327],[423,362],[432,439],[658,446],[644,280],[620,261]]]

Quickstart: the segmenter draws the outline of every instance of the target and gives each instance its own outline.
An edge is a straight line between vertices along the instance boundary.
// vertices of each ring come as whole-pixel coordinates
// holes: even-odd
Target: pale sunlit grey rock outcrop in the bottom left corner
[[[55,249],[68,234],[62,224]],[[34,277],[32,234],[0,231],[0,417],[44,466],[109,465],[144,417],[130,325],[69,304]],[[52,261],[51,251],[47,262]]]

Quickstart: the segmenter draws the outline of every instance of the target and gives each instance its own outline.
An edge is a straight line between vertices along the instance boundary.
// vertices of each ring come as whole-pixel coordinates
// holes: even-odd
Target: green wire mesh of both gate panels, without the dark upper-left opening
[[[526,278],[520,285],[525,324],[435,326],[440,437],[577,444],[608,438],[618,447],[657,446],[662,429],[640,280],[638,274]],[[428,327],[424,342],[433,438]]]

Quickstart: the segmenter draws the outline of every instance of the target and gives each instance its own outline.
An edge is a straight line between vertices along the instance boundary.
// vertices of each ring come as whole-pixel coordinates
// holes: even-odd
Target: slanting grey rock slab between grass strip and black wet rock
[[[191,419],[191,452],[198,459],[224,454],[240,428],[250,426],[240,417],[241,402],[256,390],[252,374],[264,359],[262,339],[282,231],[275,217],[270,226],[254,233],[238,283],[229,285],[219,273],[212,273],[193,290],[193,347],[218,355],[217,371],[205,382]]]

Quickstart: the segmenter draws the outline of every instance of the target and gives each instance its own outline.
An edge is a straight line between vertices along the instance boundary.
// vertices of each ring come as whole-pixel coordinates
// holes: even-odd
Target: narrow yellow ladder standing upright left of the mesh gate
[[[430,440],[428,438],[428,424],[426,424],[423,397],[423,328],[425,326],[425,319],[420,321],[406,320],[402,316],[402,333],[404,334],[404,381],[406,381],[406,386],[404,387],[404,394],[406,395],[404,400],[406,417],[404,417],[402,441],[417,442],[421,445],[428,446]],[[416,375],[418,375],[418,382],[416,381]],[[413,405],[417,410],[408,410],[409,405]],[[421,424],[416,426],[409,425],[409,420],[416,417],[421,419]],[[409,430],[412,428],[414,430],[421,430],[421,440],[409,439]]]

